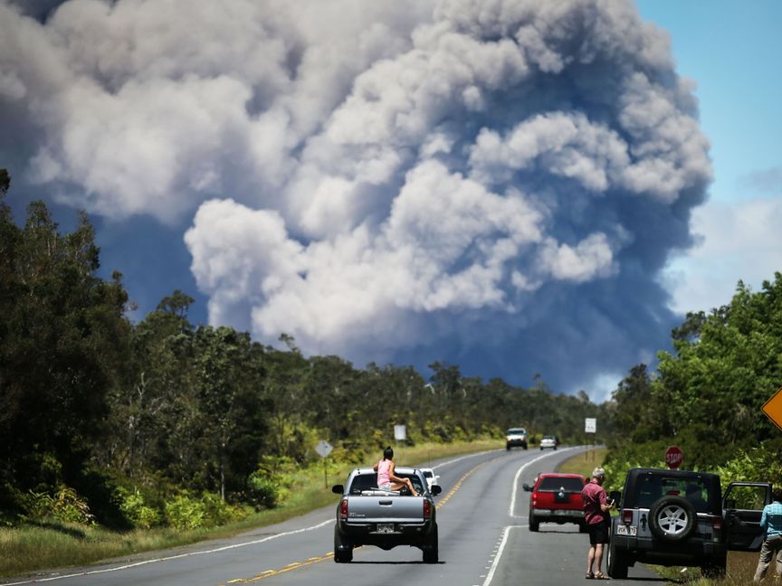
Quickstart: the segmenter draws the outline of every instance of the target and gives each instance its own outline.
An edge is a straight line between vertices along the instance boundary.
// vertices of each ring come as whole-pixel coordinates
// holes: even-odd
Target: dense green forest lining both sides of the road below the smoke
[[[229,327],[188,320],[181,291],[138,323],[86,215],[61,233],[46,206],[14,222],[0,170],[0,523],[59,506],[72,521],[115,527],[173,524],[208,502],[273,507],[280,471],[332,458],[368,461],[405,424],[407,441],[494,437],[507,427],[583,441],[601,422],[613,482],[627,466],[660,465],[676,442],[686,468],[782,480],[779,430],[760,407],[782,385],[782,274],[730,304],[688,315],[656,370],[637,364],[611,401],[463,376],[435,363],[357,367],[305,356],[290,336],[261,345]],[[765,468],[764,468],[765,467]],[[770,468],[769,468],[770,467]],[[745,479],[754,479],[746,477]],[[178,509],[177,509],[178,507]],[[221,508],[222,507],[222,508]],[[219,520],[216,515],[215,519]]]

